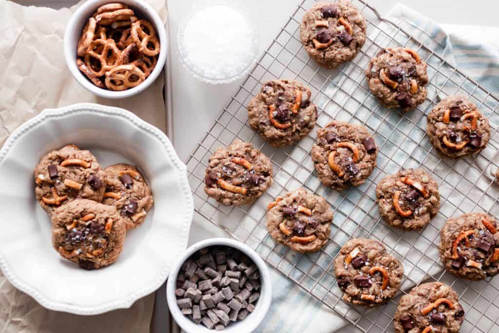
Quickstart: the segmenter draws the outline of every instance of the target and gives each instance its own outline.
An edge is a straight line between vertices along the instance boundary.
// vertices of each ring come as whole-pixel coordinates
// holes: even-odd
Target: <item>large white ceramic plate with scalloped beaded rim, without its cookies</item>
[[[50,219],[34,195],[33,168],[66,144],[89,149],[102,167],[138,165],[154,207],[128,232],[118,260],[85,271],[52,248]],[[184,253],[193,217],[186,166],[165,134],[129,111],[96,104],[47,109],[17,128],[0,150],[0,268],[48,309],[94,315],[128,308],[166,280]]]

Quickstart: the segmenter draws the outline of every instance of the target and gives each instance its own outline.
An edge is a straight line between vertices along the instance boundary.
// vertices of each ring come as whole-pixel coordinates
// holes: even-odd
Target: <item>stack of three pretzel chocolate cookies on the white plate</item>
[[[87,270],[114,263],[126,231],[141,225],[154,203],[137,168],[115,164],[103,170],[75,145],[43,156],[34,178],[36,198],[51,216],[54,249]]]

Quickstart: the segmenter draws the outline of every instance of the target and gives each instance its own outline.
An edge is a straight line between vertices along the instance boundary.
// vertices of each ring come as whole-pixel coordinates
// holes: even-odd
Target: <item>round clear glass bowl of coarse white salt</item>
[[[213,3],[182,20],[177,46],[184,66],[196,78],[212,84],[230,83],[255,65],[258,30],[238,8]]]

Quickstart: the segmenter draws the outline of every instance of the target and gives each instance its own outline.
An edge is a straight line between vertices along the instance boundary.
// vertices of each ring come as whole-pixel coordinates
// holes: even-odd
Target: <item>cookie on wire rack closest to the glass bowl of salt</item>
[[[252,129],[274,147],[301,140],[314,127],[317,107],[310,89],[293,80],[265,82],[248,104]]]

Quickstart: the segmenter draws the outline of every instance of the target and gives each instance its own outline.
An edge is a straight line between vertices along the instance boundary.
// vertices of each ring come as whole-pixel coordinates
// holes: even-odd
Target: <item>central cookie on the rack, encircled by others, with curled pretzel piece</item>
[[[317,130],[311,155],[322,184],[343,190],[366,181],[376,166],[378,148],[364,126],[333,120]]]

